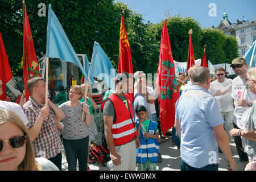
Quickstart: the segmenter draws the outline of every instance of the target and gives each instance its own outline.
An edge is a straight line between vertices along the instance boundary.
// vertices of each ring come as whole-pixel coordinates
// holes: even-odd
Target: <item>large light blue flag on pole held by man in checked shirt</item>
[[[62,59],[63,61],[76,64],[81,70],[82,74],[84,74],[85,79],[89,81],[88,75],[82,67],[75,50],[69,42],[59,20],[52,11],[51,4],[49,4],[48,9],[46,57],[56,57]]]

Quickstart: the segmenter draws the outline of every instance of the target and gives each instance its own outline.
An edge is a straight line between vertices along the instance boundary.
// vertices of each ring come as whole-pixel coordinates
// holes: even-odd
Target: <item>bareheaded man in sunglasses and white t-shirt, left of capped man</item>
[[[210,87],[214,89],[221,90],[226,86],[232,84],[232,80],[225,78],[225,68],[218,67],[215,69],[215,75],[217,80],[210,83]],[[224,94],[224,96],[215,96],[218,101],[218,106],[220,107],[222,118],[224,119],[224,129],[229,137],[229,142],[231,142],[231,137],[229,131],[233,129],[233,117],[234,117],[234,106],[233,98],[230,92]]]

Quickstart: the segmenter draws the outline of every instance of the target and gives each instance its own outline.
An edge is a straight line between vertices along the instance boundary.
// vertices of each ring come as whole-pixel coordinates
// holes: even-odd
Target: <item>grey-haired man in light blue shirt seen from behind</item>
[[[181,171],[218,170],[218,146],[235,170],[228,135],[217,100],[207,91],[210,71],[205,67],[192,69],[193,86],[176,102],[175,128],[181,139]]]

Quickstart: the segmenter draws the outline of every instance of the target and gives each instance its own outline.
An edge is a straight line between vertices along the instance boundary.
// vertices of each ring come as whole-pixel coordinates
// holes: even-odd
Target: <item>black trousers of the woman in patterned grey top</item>
[[[89,136],[77,140],[63,138],[63,146],[68,162],[68,171],[76,171],[77,159],[79,171],[87,171]]]

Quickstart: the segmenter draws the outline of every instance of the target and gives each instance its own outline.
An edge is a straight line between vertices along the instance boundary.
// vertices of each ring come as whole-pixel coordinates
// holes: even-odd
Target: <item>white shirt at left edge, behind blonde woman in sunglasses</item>
[[[15,102],[0,101],[0,110],[4,109],[11,110],[16,113],[20,117],[20,119],[22,119],[23,123],[27,126],[28,120],[20,105],[16,104]]]

